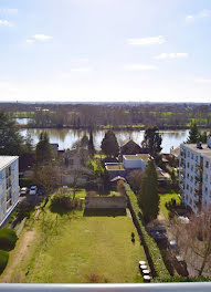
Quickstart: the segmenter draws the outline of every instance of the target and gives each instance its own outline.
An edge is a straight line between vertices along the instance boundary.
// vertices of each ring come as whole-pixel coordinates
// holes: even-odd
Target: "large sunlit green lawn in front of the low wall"
[[[36,238],[14,270],[14,281],[29,283],[141,282],[143,246],[131,218],[85,217],[83,210],[45,213],[35,223]],[[135,233],[135,243],[131,242]],[[23,242],[24,244],[24,242]],[[25,275],[28,265],[30,272]]]

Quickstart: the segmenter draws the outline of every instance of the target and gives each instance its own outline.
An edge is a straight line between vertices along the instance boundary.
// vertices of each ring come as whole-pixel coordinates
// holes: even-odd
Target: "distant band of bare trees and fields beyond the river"
[[[211,105],[200,104],[21,104],[2,103],[0,109],[11,117],[31,117],[31,127],[136,128],[157,125],[159,128],[211,126]]]

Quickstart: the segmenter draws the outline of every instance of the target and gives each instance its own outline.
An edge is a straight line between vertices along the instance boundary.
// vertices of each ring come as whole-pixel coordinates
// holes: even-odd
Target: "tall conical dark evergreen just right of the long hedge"
[[[159,195],[157,171],[152,159],[146,166],[138,194],[138,201],[146,221],[157,218],[159,213]]]

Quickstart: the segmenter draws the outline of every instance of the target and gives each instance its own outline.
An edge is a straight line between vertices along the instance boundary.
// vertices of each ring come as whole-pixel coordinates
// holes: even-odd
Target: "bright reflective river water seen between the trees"
[[[27,136],[29,132],[33,139],[33,143],[36,144],[39,142],[39,136],[43,129],[40,128],[29,128],[29,129],[21,129],[20,134],[22,136]],[[44,129],[50,137],[50,143],[57,143],[60,149],[67,149],[71,148],[74,142],[78,138],[82,138],[85,131],[81,129],[66,129],[66,128],[46,128]],[[94,145],[97,150],[101,149],[101,143],[104,138],[106,131],[97,131],[94,133]],[[169,153],[170,148],[178,147],[181,143],[183,143],[188,137],[188,129],[178,129],[178,131],[161,131],[160,134],[162,135],[162,153]],[[131,138],[134,142],[140,145],[144,139],[144,131],[115,131],[116,137],[118,143],[123,142],[124,139]]]

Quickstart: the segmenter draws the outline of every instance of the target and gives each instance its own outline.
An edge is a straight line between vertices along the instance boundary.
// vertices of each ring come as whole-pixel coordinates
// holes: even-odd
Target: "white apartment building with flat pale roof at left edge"
[[[19,157],[0,156],[0,226],[19,202]]]

